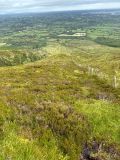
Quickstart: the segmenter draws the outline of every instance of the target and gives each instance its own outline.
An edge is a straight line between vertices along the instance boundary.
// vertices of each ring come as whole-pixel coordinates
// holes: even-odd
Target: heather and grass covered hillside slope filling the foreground
[[[0,68],[0,159],[119,160],[120,90],[75,57]]]

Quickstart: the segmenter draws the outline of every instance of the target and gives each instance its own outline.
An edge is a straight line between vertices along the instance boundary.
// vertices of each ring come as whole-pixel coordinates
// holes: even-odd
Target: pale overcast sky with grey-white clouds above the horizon
[[[0,14],[120,8],[120,0],[0,0]]]

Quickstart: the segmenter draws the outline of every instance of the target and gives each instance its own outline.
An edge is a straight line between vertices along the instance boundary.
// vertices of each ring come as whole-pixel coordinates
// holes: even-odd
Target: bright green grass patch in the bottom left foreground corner
[[[0,141],[0,159],[13,160],[67,160],[66,156],[59,151],[54,137],[47,142],[45,137],[44,144],[38,144],[34,140],[29,140],[15,132],[17,127],[13,123],[5,124],[4,139]],[[17,127],[18,128],[18,127]],[[42,142],[41,142],[42,143]]]

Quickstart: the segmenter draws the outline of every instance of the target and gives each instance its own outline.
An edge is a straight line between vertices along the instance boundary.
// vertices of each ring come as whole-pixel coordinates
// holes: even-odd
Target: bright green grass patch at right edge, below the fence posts
[[[92,123],[92,135],[108,141],[120,142],[120,109],[118,104],[104,101],[78,101],[75,107]]]

